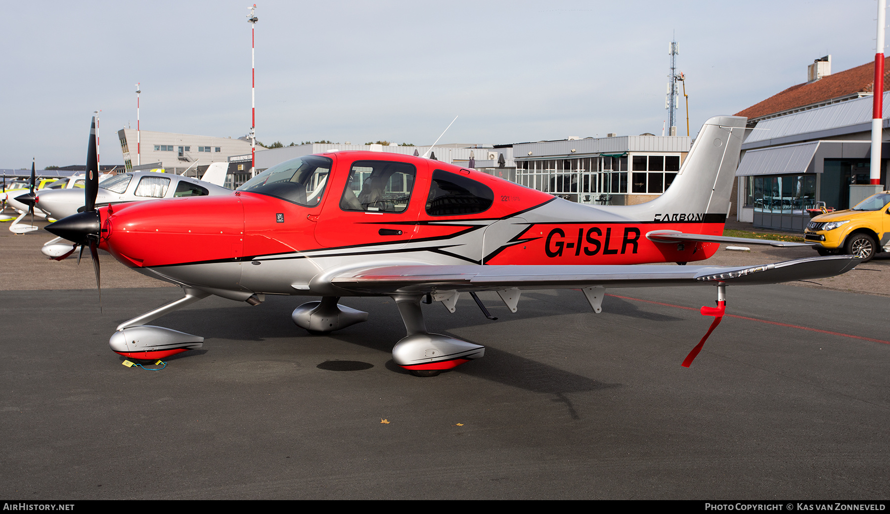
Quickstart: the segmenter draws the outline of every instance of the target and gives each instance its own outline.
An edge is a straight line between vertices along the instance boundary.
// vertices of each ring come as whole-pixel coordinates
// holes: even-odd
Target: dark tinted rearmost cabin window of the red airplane
[[[426,213],[430,216],[475,214],[487,211],[494,202],[494,192],[485,184],[456,173],[433,172]]]

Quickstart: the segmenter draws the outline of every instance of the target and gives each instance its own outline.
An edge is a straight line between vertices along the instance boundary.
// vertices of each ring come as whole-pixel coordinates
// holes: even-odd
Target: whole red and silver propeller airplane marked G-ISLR
[[[453,312],[461,293],[490,317],[476,292],[498,292],[515,312],[522,290],[578,288],[600,312],[607,287],[710,286],[717,307],[701,309],[715,317],[710,334],[724,315],[726,285],[832,277],[859,262],[837,255],[755,267],[635,266],[702,261],[720,242],[796,245],[722,236],[745,122],[709,119],[671,186],[642,205],[580,205],[422,157],[332,151],[275,165],[221,197],[97,209],[91,183],[85,212],[46,229],[89,246],[97,285],[101,248],[182,287],[182,298],[117,326],[109,344],[125,357],[200,347],[203,337],[146,324],[212,294],[252,305],[266,294],[320,296],[292,315],[312,333],[368,319],[340,297],[390,296],[408,333],[393,361],[420,376],[484,353],[425,325],[421,301]],[[88,166],[92,135],[90,145]]]

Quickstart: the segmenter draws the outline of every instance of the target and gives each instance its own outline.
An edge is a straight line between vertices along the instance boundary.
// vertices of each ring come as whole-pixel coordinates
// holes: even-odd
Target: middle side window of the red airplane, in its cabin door
[[[417,168],[392,161],[352,163],[340,208],[344,211],[403,213],[411,200]]]

